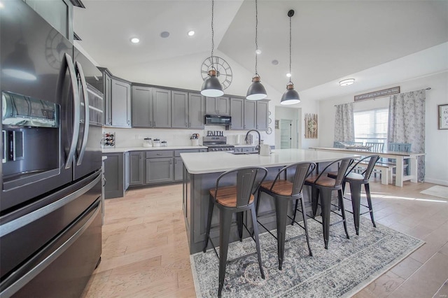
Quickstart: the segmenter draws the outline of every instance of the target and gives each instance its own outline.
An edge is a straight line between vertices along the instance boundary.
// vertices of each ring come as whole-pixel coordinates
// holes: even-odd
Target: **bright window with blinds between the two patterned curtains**
[[[353,113],[355,141],[387,143],[388,109]]]

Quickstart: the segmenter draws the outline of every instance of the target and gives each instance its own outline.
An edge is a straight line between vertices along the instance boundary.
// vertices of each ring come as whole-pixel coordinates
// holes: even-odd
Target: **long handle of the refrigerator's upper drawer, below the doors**
[[[66,204],[69,204],[69,202],[85,194],[85,192],[91,190],[92,187],[94,187],[94,185],[96,185],[97,183],[99,183],[99,181],[101,181],[101,178],[102,176],[101,174],[99,174],[97,178],[95,178],[92,182],[80,188],[79,190],[76,190],[76,192],[72,192],[66,197],[63,197],[62,199],[59,199],[51,204],[48,204],[47,206],[40,208],[36,211],[28,213],[27,215],[24,215],[16,220],[6,222],[5,224],[0,226],[0,237],[6,236],[7,234],[14,232],[15,230],[20,229],[21,227],[25,227],[25,225],[29,225],[31,222],[34,222],[39,218],[43,218],[43,216],[52,213],[53,211],[61,208]]]

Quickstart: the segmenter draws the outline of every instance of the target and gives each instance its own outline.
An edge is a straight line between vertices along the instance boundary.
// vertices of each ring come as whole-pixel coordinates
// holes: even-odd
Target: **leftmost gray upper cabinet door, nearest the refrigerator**
[[[112,126],[131,127],[131,84],[123,80],[111,80]]]

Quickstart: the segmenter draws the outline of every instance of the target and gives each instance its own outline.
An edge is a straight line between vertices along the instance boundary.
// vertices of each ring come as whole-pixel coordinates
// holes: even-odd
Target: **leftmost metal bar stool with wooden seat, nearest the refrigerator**
[[[260,184],[265,180],[267,175],[267,169],[262,167],[244,167],[239,169],[234,169],[231,171],[226,171],[222,173],[216,180],[216,187],[209,190],[210,202],[209,202],[209,215],[207,218],[207,232],[204,241],[204,253],[207,250],[207,245],[210,241],[213,246],[216,256],[219,259],[219,288],[218,297],[221,297],[221,292],[224,285],[225,277],[225,267],[227,265],[227,255],[229,246],[229,236],[230,227],[232,225],[232,214],[237,213],[237,225],[239,240],[242,241],[243,238],[243,212],[251,211],[251,217],[253,222],[253,235],[248,231],[246,225],[246,230],[251,234],[253,240],[255,241],[257,247],[258,255],[258,265],[260,266],[261,277],[265,279],[265,273],[263,272],[261,266],[261,255],[260,255],[260,241],[258,240],[258,225],[257,218],[255,215],[255,205],[254,205],[254,194],[260,187]],[[228,181],[232,176],[236,177],[236,185],[223,186],[220,185],[221,179]],[[224,181],[223,180],[223,181]],[[224,184],[224,183],[221,183]],[[226,183],[228,184],[228,183]],[[219,208],[219,256],[216,252],[214,243],[210,238],[210,226],[211,226],[211,215],[213,214],[214,206]],[[239,257],[237,260],[239,260]]]

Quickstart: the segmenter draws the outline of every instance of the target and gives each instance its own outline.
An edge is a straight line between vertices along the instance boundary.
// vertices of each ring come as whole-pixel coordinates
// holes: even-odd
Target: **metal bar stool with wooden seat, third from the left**
[[[322,222],[320,223],[323,226],[323,242],[325,244],[325,249],[328,249],[328,238],[330,234],[330,213],[335,213],[331,210],[331,192],[333,190],[337,190],[337,197],[339,200],[339,206],[341,208],[341,216],[342,222],[344,223],[346,238],[350,239],[349,232],[347,232],[344,201],[342,199],[342,181],[344,180],[347,169],[349,169],[349,166],[352,163],[353,159],[351,157],[337,159],[334,162],[328,164],[328,166],[325,166],[325,169],[323,169],[320,174],[310,176],[305,179],[305,185],[311,186],[311,201],[314,220],[316,220],[315,216],[317,213],[318,199],[320,199],[321,201]],[[339,170],[337,171],[337,176],[335,179],[328,177],[328,172],[325,172],[333,164],[339,164]],[[339,215],[338,213],[335,214]],[[318,220],[316,221],[319,222]],[[332,225],[335,225],[339,222],[335,222]]]

